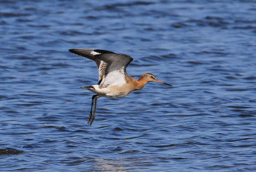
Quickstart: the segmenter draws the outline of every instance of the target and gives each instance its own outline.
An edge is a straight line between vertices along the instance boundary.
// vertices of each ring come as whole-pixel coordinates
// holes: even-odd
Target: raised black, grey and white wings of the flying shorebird
[[[126,83],[126,67],[133,60],[130,56],[99,49],[70,49],[69,51],[95,61],[99,70],[100,87]]]

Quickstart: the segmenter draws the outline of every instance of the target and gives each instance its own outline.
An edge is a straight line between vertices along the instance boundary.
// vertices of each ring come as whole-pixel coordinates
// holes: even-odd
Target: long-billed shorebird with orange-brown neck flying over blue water
[[[97,99],[99,97],[125,97],[132,91],[141,90],[147,82],[152,81],[172,86],[166,82],[159,81],[150,73],[142,75],[138,80],[127,75],[126,67],[133,59],[125,54],[116,54],[115,52],[100,49],[69,49],[69,51],[79,56],[92,59],[98,67],[98,84],[81,87],[96,94],[92,97],[92,107],[89,114],[88,125],[92,125],[95,119]]]

